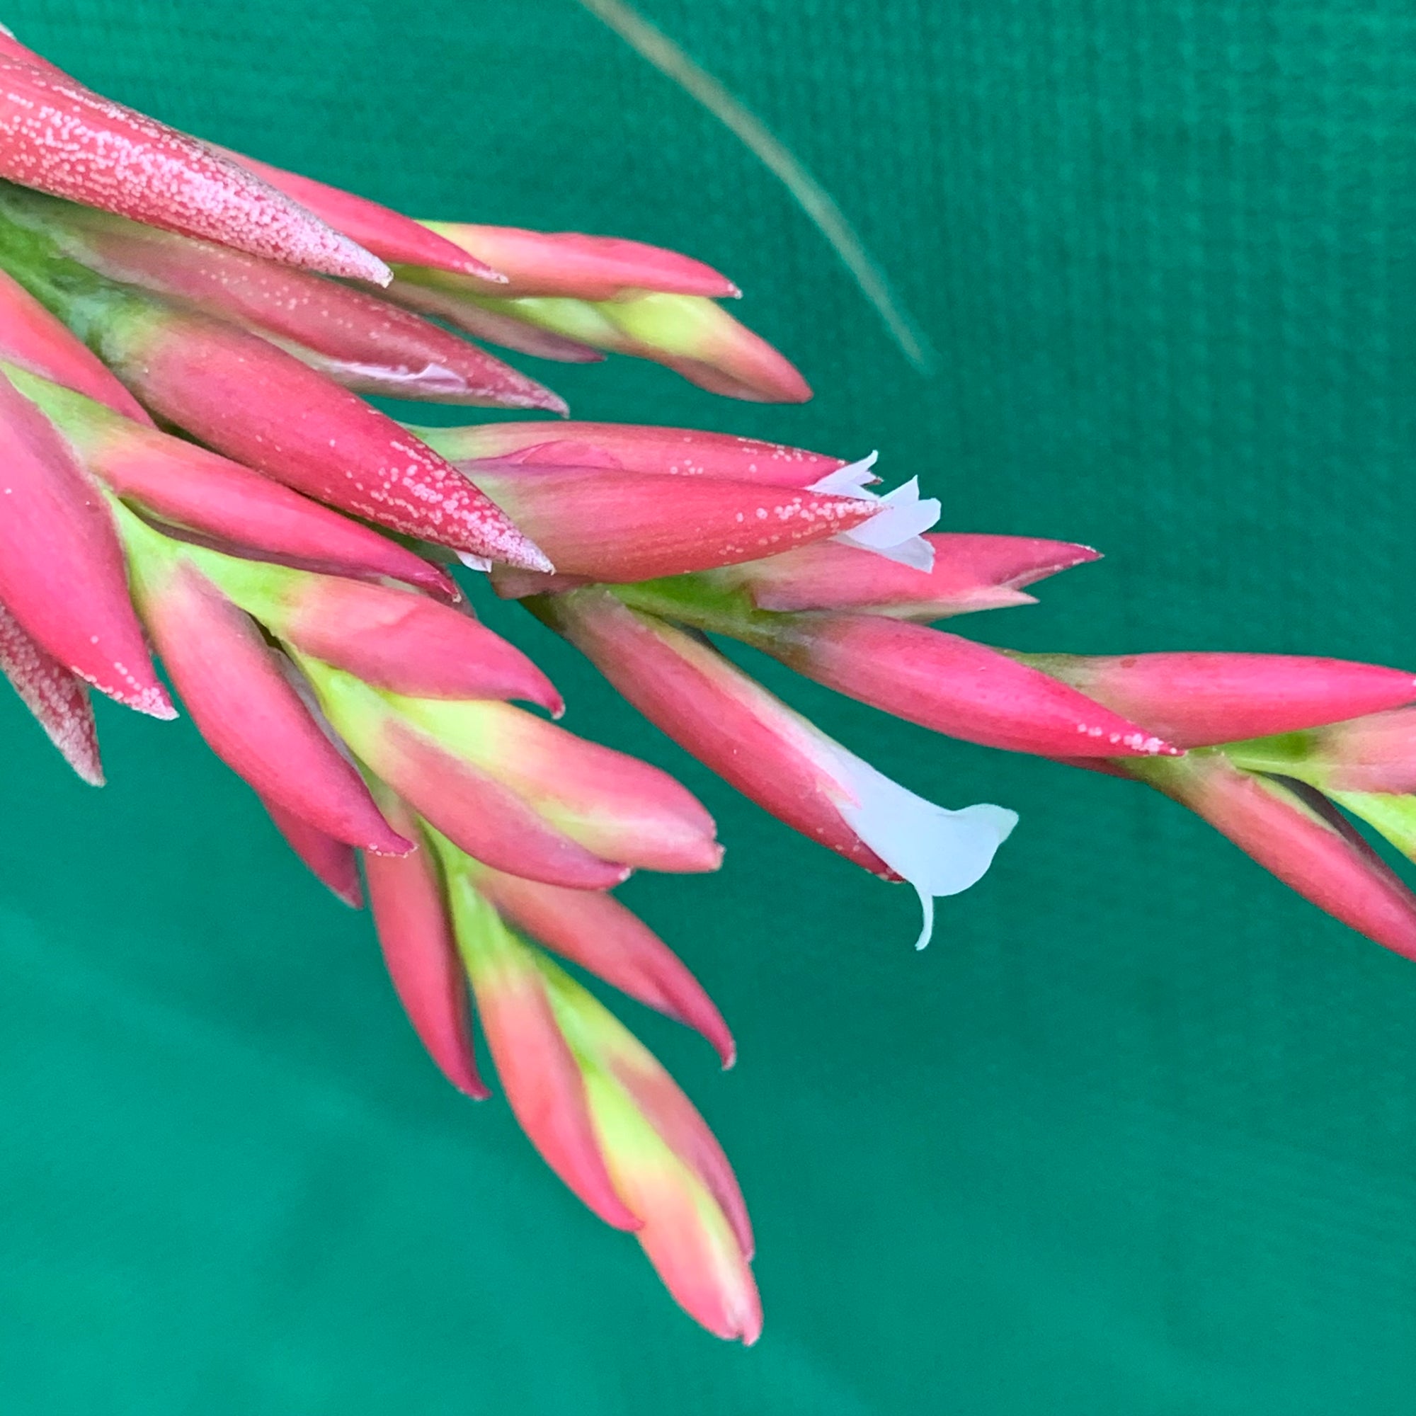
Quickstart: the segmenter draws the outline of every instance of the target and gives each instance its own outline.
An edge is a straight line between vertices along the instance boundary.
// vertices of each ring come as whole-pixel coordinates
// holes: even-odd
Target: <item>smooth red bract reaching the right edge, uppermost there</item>
[[[1182,748],[1262,738],[1399,708],[1399,668],[1291,654],[1017,654]]]

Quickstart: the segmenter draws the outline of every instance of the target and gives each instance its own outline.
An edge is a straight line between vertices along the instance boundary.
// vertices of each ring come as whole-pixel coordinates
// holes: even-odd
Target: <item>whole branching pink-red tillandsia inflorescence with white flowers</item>
[[[1321,909],[1416,957],[1416,677],[1269,654],[1018,654],[930,627],[1025,605],[1096,558],[933,532],[916,483],[690,429],[429,429],[364,395],[565,413],[467,336],[551,360],[657,360],[714,392],[810,396],[716,303],[736,287],[632,241],[416,222],[92,93],[0,34],[0,668],[102,783],[89,688],[160,718],[166,678],[343,901],[367,892],[399,1000],[462,1092],[480,1021],[558,1175],[633,1232],[707,1328],[755,1341],[732,1170],[663,1068],[559,960],[733,1059],[684,964],[612,893],[714,871],[712,818],[586,742],[450,568],[490,572],[646,718],[782,821],[935,901],[1015,816],[950,810],[756,683],[729,637],[969,742],[1130,777]],[[515,704],[541,709],[542,716]]]

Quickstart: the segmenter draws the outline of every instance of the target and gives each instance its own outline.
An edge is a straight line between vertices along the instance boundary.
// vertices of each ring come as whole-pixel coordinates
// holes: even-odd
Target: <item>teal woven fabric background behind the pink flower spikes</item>
[[[583,418],[919,473],[946,525],[1107,552],[966,622],[1028,649],[1416,661],[1416,11],[1406,0],[644,0],[835,195],[913,371],[725,130],[573,0],[11,0],[115,98],[429,217],[698,255],[816,384],[733,405],[535,365]],[[524,361],[532,367],[532,361]],[[500,1100],[425,1062],[367,919],[190,725],[102,711],[112,786],[0,702],[0,1392],[59,1416],[1406,1416],[1416,966],[1140,787],[763,668],[884,770],[1022,814],[910,946],[569,651],[568,726],[678,772],[716,878],[629,899],[735,1072],[622,1014],[732,1154],[753,1351],[700,1334]]]

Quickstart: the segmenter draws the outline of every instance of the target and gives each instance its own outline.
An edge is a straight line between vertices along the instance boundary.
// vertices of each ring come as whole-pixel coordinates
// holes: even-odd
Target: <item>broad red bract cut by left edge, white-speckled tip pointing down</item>
[[[48,419],[0,377],[0,603],[99,692],[173,708],[133,615],[103,496]]]

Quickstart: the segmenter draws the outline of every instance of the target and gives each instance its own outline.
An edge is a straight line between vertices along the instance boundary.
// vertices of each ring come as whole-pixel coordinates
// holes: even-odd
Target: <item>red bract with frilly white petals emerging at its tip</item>
[[[596,581],[647,581],[772,555],[850,531],[879,507],[721,477],[491,463],[467,476],[555,562]]]

